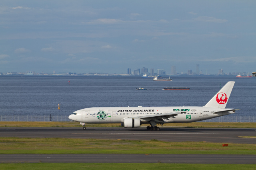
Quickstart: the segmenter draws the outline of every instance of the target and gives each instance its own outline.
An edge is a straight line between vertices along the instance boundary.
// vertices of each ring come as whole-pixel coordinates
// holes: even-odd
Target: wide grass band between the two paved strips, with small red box
[[[226,144],[226,143],[225,143]],[[69,139],[0,138],[0,154],[256,154],[256,144]]]

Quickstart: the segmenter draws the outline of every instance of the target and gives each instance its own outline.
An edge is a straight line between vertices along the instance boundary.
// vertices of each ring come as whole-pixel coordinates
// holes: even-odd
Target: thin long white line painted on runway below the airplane
[[[120,134],[120,135],[128,135],[128,134],[135,134],[135,135],[141,135],[141,134],[148,134],[148,133],[72,133],[72,134]],[[256,133],[152,133],[154,135],[165,135],[165,134],[201,134],[201,135],[256,135]]]

